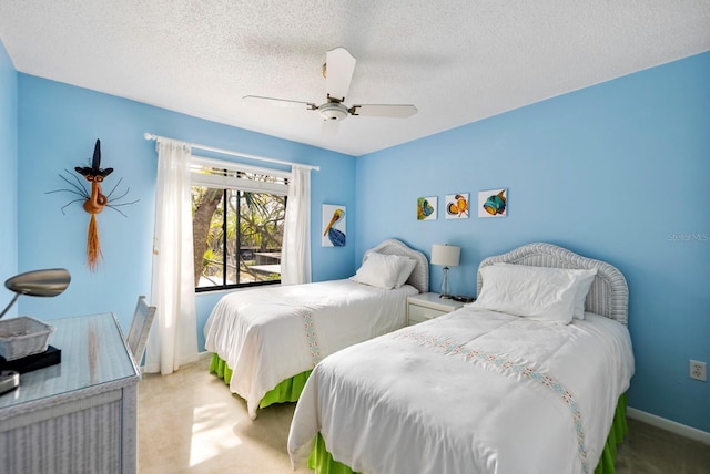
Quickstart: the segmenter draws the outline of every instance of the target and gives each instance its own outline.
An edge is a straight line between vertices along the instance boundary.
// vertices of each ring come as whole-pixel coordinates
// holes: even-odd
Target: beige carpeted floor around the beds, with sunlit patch
[[[261,410],[207,372],[209,359],[139,384],[139,472],[293,473],[286,453],[294,403]],[[636,420],[619,446],[617,474],[710,474],[710,445]],[[307,468],[295,473],[311,473]]]

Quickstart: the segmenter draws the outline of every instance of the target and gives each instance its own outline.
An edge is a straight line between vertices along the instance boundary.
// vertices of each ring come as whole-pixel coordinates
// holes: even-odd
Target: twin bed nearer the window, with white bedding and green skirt
[[[232,292],[205,323],[210,370],[255,419],[258,408],[298,400],[326,356],[404,327],[407,297],[428,287],[426,256],[388,239],[352,278]]]

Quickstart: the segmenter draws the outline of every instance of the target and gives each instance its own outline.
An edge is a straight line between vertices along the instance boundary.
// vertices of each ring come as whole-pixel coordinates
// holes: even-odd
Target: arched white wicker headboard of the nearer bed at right
[[[615,319],[622,324],[628,321],[629,288],[623,274],[618,268],[601,260],[582,257],[552,244],[528,244],[507,254],[488,257],[478,267],[477,292],[480,293],[483,279],[480,269],[498,261],[535,267],[597,269],[591,284],[585,310]]]

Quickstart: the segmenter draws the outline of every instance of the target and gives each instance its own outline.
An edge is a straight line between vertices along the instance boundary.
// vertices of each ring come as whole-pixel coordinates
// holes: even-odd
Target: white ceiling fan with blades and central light
[[[267,101],[278,105],[305,105],[306,110],[318,111],[323,117],[323,133],[326,135],[335,135],[338,122],[345,120],[348,115],[406,118],[417,113],[417,107],[404,104],[345,105],[345,96],[351,87],[355,62],[355,58],[345,48],[335,48],[326,53],[323,76],[325,78],[325,96],[327,101],[321,105],[312,102],[264,97],[261,95],[245,95],[242,99],[260,102]]]

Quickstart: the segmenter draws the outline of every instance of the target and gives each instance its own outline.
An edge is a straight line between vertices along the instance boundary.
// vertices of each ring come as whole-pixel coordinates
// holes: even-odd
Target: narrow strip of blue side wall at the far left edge
[[[18,270],[18,73],[0,41],[0,276]],[[0,297],[0,311],[12,296]],[[17,306],[10,316],[17,315]]]

